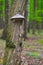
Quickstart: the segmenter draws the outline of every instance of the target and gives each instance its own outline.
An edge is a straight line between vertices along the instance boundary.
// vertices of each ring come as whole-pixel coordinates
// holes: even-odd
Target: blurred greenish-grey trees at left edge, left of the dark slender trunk
[[[0,0],[0,29],[4,28],[5,22],[5,0]]]

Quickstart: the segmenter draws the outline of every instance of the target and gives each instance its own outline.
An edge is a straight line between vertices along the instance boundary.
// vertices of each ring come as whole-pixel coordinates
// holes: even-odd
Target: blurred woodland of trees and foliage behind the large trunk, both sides
[[[12,9],[12,3],[12,0],[0,0],[0,29],[3,29],[7,26],[9,18],[8,16]],[[43,30],[43,1],[28,0],[26,6],[26,15],[26,30],[28,32],[32,30],[33,34],[36,30],[40,33]]]

